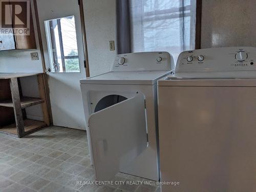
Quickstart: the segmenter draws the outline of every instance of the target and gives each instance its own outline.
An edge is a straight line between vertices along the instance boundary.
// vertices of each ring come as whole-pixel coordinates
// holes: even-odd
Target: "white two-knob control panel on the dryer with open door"
[[[117,55],[111,71],[169,71],[175,68],[168,52],[142,52]]]

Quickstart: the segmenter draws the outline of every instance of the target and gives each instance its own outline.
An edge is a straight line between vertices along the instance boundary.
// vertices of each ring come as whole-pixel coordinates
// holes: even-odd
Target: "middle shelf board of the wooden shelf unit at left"
[[[36,98],[36,97],[21,97],[20,105],[22,105],[22,109],[27,108],[28,106],[32,106],[35,104],[40,104],[44,102],[44,99]],[[7,106],[9,108],[13,108],[13,102],[11,99],[0,101],[0,106]]]

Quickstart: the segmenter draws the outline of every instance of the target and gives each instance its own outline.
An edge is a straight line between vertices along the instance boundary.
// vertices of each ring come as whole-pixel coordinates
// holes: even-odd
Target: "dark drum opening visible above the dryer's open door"
[[[100,110],[103,110],[105,108],[108,108],[109,106],[112,106],[116,103],[122,102],[126,100],[126,97],[123,97],[121,95],[108,95],[100,99],[100,101],[97,103],[94,113],[98,112]]]

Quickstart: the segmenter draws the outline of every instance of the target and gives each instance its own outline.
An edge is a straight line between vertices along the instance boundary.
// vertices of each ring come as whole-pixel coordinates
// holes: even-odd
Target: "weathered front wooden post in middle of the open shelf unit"
[[[16,127],[17,127],[17,135],[20,138],[25,135],[25,130],[24,130],[23,115],[22,115],[22,106],[20,105],[17,78],[10,79],[10,88],[12,93],[12,102],[13,102],[13,110],[14,110]]]

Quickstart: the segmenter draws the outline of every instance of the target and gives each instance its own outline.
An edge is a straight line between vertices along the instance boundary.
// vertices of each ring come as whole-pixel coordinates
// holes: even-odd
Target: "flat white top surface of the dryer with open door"
[[[155,84],[170,71],[116,71],[80,79],[81,84]]]

